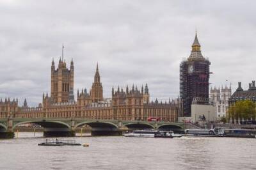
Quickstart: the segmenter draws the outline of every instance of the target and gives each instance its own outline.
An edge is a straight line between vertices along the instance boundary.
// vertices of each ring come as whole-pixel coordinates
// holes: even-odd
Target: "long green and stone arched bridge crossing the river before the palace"
[[[162,121],[89,120],[84,118],[0,118],[0,138],[12,138],[14,128],[25,123],[44,127],[44,136],[75,136],[75,129],[88,125],[92,135],[121,135],[127,130],[154,128],[182,132],[183,123]]]

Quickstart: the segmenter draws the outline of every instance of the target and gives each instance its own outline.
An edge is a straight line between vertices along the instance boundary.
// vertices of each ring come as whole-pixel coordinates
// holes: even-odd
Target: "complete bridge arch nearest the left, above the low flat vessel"
[[[19,123],[13,124],[13,129],[24,123],[35,123],[44,128],[71,128],[70,125],[63,121],[54,121],[54,120],[29,120],[29,121],[20,121]]]

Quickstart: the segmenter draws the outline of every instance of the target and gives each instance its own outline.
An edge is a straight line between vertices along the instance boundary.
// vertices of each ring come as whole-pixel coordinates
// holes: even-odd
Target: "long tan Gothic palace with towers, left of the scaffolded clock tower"
[[[77,90],[74,97],[74,61],[68,68],[65,60],[60,58],[58,67],[52,59],[51,93],[42,95],[38,107],[28,107],[26,99],[22,106],[18,99],[0,101],[1,118],[88,118],[91,120],[144,120],[158,117],[161,121],[175,122],[179,112],[178,101],[150,102],[148,85],[138,88],[134,85],[125,89],[112,88],[112,98],[103,97],[97,64],[92,88]]]

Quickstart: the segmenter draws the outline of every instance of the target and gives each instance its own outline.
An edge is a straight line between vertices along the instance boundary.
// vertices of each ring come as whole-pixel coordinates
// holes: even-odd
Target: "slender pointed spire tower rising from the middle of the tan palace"
[[[90,96],[92,97],[92,102],[100,102],[103,100],[103,88],[100,82],[100,73],[97,63],[96,72],[94,75],[94,82],[92,84],[92,89],[90,91]]]

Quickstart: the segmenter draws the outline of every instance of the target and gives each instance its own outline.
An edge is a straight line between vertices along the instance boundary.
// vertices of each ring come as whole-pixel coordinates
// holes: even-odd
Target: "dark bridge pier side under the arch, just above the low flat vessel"
[[[76,132],[69,128],[44,128],[44,137],[74,137]]]

